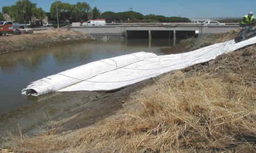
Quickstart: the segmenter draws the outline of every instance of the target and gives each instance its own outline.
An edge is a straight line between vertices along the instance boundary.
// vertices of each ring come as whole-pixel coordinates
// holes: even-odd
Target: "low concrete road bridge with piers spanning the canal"
[[[95,37],[117,37],[129,38],[131,33],[146,35],[149,40],[153,33],[165,32],[176,42],[176,36],[182,35],[210,35],[224,33],[239,27],[238,23],[225,23],[225,25],[203,25],[202,23],[115,23],[104,26],[84,26],[80,23],[73,23],[71,29],[81,33],[91,34]],[[183,32],[183,33],[182,33]],[[154,37],[153,37],[154,38]]]

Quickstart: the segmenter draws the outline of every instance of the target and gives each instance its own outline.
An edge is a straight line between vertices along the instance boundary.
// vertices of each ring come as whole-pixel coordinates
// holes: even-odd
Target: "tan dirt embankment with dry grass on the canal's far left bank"
[[[56,44],[93,40],[89,35],[66,29],[34,31],[33,34],[10,35],[0,37],[0,55],[34,47],[49,47]]]

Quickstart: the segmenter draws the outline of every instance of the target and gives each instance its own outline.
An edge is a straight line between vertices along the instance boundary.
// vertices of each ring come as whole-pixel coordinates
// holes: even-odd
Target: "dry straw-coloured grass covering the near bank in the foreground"
[[[250,68],[227,66],[243,58],[243,53],[248,55],[243,63],[252,62]],[[165,75],[141,90],[123,111],[94,127],[17,138],[15,148],[32,152],[255,152],[256,90],[246,84],[255,76],[255,54],[256,47],[249,47],[211,61],[202,71],[191,70],[193,75],[182,71]]]

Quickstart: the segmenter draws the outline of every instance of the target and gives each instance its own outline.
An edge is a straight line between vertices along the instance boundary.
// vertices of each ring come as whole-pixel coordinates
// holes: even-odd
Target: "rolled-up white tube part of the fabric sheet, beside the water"
[[[91,62],[32,82],[25,89],[22,89],[22,94],[39,96],[55,92],[98,74],[156,56],[152,53],[139,52]]]

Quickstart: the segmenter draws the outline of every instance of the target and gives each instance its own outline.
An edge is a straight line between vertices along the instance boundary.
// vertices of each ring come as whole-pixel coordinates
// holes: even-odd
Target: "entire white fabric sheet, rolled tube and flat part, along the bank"
[[[156,77],[162,73],[207,62],[217,56],[256,43],[256,37],[234,43],[216,43],[192,52],[157,56],[139,52],[81,65],[32,82],[22,94],[39,96],[50,92],[108,91]]]

